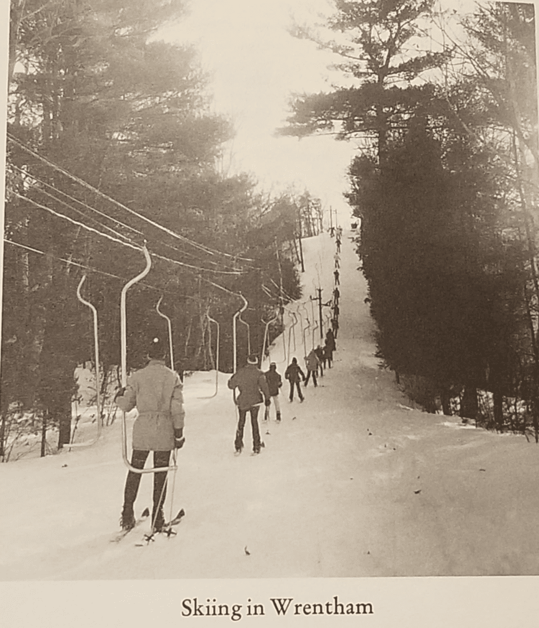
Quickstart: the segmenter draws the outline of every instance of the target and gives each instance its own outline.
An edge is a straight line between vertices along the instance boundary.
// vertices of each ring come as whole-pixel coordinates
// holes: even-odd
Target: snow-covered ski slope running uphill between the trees
[[[186,444],[178,452],[172,507],[171,484],[166,502],[167,518],[171,508],[186,511],[177,536],[159,535],[147,545],[145,522],[110,543],[126,474],[117,420],[92,447],[0,466],[0,522],[9,531],[0,539],[0,578],[538,574],[539,494],[530,479],[539,448],[523,436],[460,429],[458,419],[409,408],[393,374],[379,369],[374,356],[352,235],[343,237],[333,368],[318,388],[309,382],[302,404],[288,402],[284,380],[282,423],[275,423],[273,407],[268,425],[259,414],[265,441],[259,456],[249,455],[248,421],[245,450],[233,456],[230,375],[220,374],[211,399],[200,397],[214,392],[215,372],[186,379]],[[303,244],[303,300],[315,295],[320,276],[328,301],[334,239],[322,234]],[[311,304],[306,308],[312,318]],[[292,317],[285,320],[289,325]],[[292,355],[304,367],[298,327],[296,351],[286,361],[282,337],[272,346],[281,375]],[[81,425],[78,438],[92,430]],[[137,515],[151,506],[151,483],[151,475],[142,477]]]

